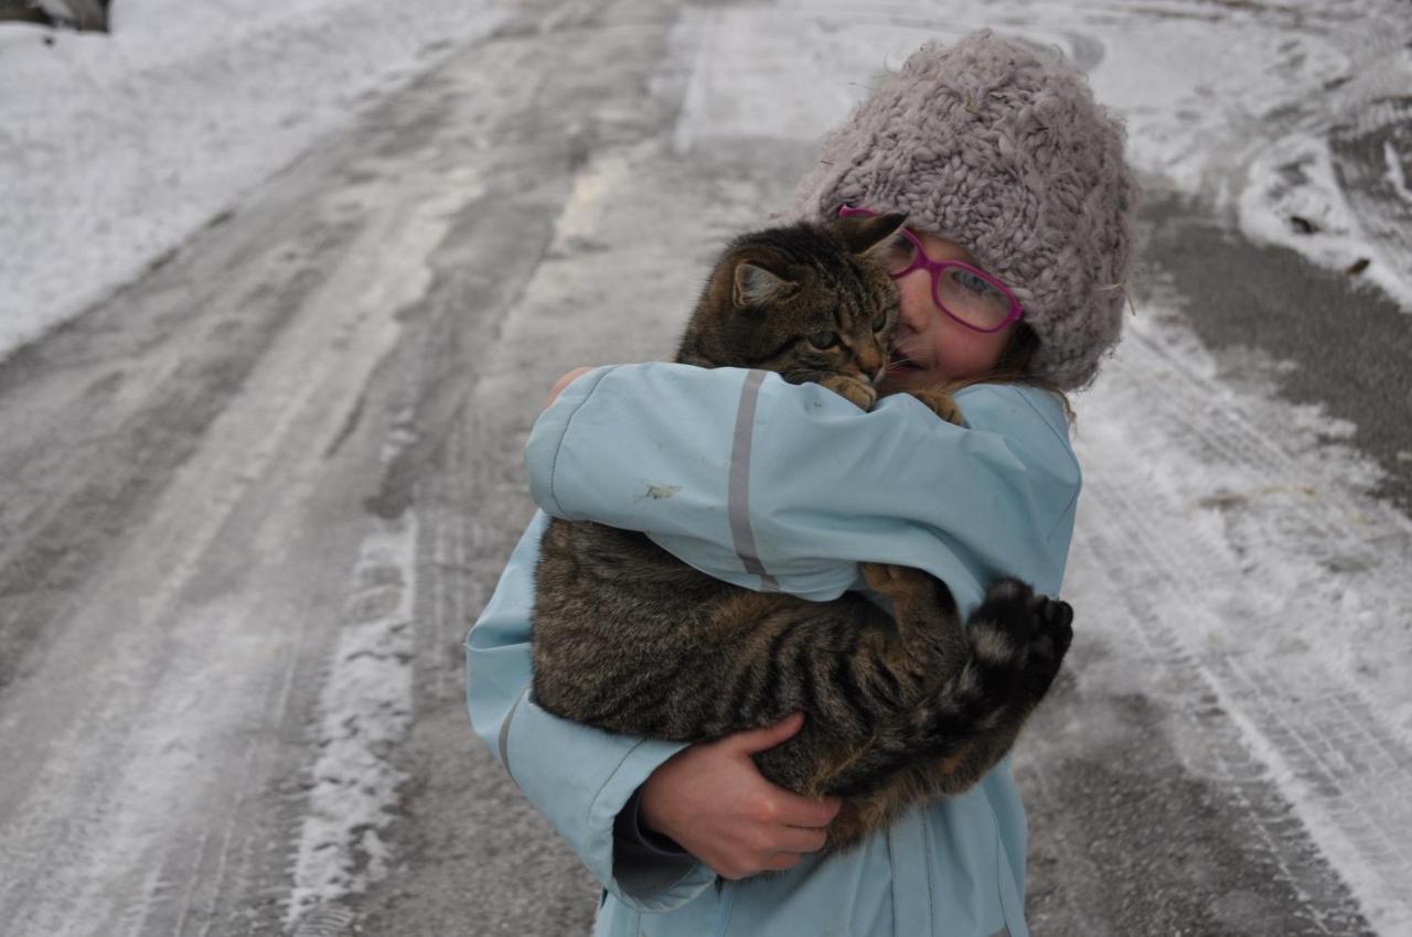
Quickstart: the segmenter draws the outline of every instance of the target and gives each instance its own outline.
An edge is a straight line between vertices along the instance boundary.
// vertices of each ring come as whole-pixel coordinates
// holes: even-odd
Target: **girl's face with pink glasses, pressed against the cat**
[[[974,257],[936,234],[915,231],[932,260],[960,260],[979,267]],[[901,294],[892,363],[878,389],[887,394],[939,387],[991,371],[1015,330],[1014,322],[998,332],[976,332],[940,310],[932,296],[932,278],[918,268],[898,278]]]

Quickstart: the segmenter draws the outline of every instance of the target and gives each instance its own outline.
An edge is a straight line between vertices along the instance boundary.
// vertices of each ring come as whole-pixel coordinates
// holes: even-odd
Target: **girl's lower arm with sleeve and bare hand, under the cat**
[[[751,752],[796,732],[798,717],[682,751],[681,744],[569,723],[535,704],[530,693],[530,617],[546,522],[539,514],[525,531],[466,638],[470,721],[525,797],[599,882],[644,912],[685,905],[717,872],[740,878],[785,869],[801,854],[819,850],[822,827],[837,811],[837,800],[777,787],[750,759]],[[633,850],[630,840],[616,835],[623,807],[638,789],[642,818],[674,835],[690,855]]]

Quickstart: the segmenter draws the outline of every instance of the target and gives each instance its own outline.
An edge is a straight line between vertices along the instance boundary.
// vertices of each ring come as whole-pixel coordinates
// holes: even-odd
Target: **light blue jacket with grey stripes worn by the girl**
[[[864,413],[764,371],[599,368],[535,425],[530,490],[549,514],[645,531],[755,590],[827,600],[860,584],[858,562],[881,560],[936,574],[963,614],[1001,574],[1056,594],[1079,495],[1060,404],[1004,385],[957,401],[964,428],[909,397]],[[559,720],[528,694],[545,524],[539,514],[525,531],[466,639],[467,701],[476,731],[604,885],[594,934],[1028,934],[1025,816],[1008,761],[863,847],[775,878],[717,893],[700,864],[665,876],[614,869],[614,817],[681,746]]]

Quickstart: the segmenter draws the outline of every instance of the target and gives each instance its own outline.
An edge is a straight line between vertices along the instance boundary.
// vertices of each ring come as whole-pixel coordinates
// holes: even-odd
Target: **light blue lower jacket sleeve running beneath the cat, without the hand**
[[[613,735],[539,708],[530,693],[534,567],[548,518],[537,514],[466,638],[466,703],[476,734],[589,872],[642,912],[679,907],[716,875],[700,862],[614,865],[613,826],[647,776],[683,745]]]

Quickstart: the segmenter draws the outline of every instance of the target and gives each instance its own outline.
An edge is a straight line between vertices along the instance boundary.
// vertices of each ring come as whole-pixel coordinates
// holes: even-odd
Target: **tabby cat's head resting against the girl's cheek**
[[[829,374],[875,382],[887,368],[898,294],[887,251],[902,214],[771,227],[736,238],[716,264],[678,361]]]

